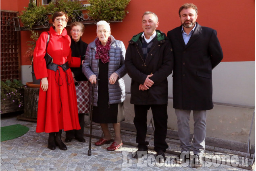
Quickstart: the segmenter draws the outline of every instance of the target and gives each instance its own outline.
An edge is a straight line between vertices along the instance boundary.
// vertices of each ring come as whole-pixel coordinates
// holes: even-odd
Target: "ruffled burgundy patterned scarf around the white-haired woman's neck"
[[[108,54],[110,50],[110,43],[111,43],[110,37],[108,37],[108,42],[105,46],[101,44],[99,38],[96,39],[95,43],[96,43],[95,59],[101,59],[101,61],[104,64],[106,64],[107,62],[109,62],[109,58],[110,58]]]

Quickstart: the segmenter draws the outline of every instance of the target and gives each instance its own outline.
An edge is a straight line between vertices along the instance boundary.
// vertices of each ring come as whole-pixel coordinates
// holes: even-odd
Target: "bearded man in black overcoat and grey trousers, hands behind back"
[[[196,23],[197,7],[184,4],[179,9],[181,26],[167,33],[174,52],[173,107],[178,119],[181,154],[175,159],[183,163],[189,159],[189,115],[194,115],[195,167],[202,167],[205,149],[206,110],[213,108],[212,69],[223,59],[216,30]]]

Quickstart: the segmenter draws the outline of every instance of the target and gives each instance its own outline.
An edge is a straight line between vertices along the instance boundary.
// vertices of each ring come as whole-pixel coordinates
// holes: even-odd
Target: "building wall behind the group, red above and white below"
[[[160,2],[160,3],[158,3]],[[214,109],[208,111],[207,136],[236,142],[247,142],[255,106],[255,1],[247,0],[192,0],[198,6],[197,22],[216,29],[223,48],[223,61],[213,70]],[[21,11],[29,0],[1,0],[2,10]],[[110,23],[112,35],[124,42],[142,32],[141,19],[145,11],[158,15],[158,29],[164,33],[181,25],[178,10],[185,0],[131,0],[129,13],[120,23]],[[16,5],[17,4],[17,5]],[[67,28],[69,32],[69,28]],[[40,31],[42,32],[42,31]],[[90,43],[96,38],[96,25],[85,25],[83,41]],[[31,81],[30,62],[24,54],[27,50],[29,32],[21,31],[22,82]],[[177,119],[172,107],[172,77],[169,76],[168,127],[177,130]],[[126,91],[130,91],[130,78],[125,76]],[[125,122],[133,122],[133,105],[125,101]],[[231,104],[231,106],[230,106]],[[237,107],[234,107],[237,106]],[[150,117],[150,116],[149,116]],[[191,117],[191,132],[193,118]],[[255,144],[255,124],[251,138]]]

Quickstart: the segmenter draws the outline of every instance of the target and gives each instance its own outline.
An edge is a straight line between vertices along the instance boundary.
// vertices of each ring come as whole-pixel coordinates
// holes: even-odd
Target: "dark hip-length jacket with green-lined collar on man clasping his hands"
[[[151,46],[146,62],[143,60],[142,33],[129,41],[125,54],[125,68],[131,77],[131,104],[163,105],[168,100],[167,76],[173,70],[173,52],[170,40],[160,31]],[[144,84],[146,77],[154,81],[146,91],[139,91],[139,84]]]

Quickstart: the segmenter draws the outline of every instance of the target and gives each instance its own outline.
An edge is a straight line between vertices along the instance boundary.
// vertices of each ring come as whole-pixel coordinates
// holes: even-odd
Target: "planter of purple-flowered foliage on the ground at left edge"
[[[24,86],[20,80],[1,81],[0,87],[1,114],[24,110]]]

